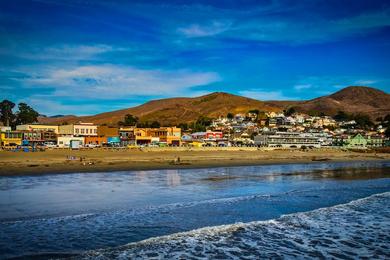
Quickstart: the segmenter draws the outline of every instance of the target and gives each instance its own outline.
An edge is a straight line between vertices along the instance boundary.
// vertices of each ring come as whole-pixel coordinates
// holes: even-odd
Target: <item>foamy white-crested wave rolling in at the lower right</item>
[[[278,219],[206,227],[87,251],[112,258],[389,258],[390,192]]]

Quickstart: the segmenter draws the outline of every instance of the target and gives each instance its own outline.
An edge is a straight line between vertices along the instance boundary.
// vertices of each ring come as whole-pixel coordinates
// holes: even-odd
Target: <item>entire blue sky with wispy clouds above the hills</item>
[[[390,91],[390,1],[0,1],[0,99],[90,115],[222,91]]]

